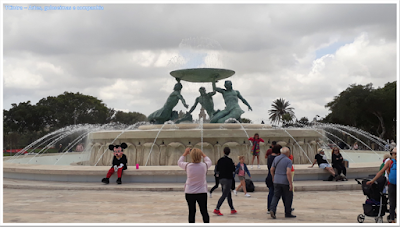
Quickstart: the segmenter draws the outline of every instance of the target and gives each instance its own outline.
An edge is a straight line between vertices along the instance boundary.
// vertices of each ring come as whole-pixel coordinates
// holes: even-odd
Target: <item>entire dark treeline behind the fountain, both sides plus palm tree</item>
[[[330,113],[321,122],[348,125],[385,140],[394,139],[397,134],[396,85],[397,82],[394,81],[375,89],[372,84],[352,84],[325,105]],[[294,121],[291,117],[294,114],[286,114],[288,116],[285,117],[288,106],[289,103],[285,102],[273,105],[270,115],[279,113],[279,120],[286,126],[311,123],[305,117]],[[287,117],[290,119],[286,119]],[[108,108],[93,96],[64,92],[57,97],[43,98],[36,105],[27,101],[12,104],[11,109],[3,110],[4,148],[23,148],[38,138],[69,125],[110,122],[132,125],[146,120],[146,116],[141,113],[125,113]],[[251,122],[250,119],[248,121]]]

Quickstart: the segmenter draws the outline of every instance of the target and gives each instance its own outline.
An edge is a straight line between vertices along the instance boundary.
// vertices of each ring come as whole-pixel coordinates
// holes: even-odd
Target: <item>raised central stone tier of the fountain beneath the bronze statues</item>
[[[113,153],[108,150],[108,145],[121,132],[114,130],[89,134],[89,146],[92,147],[90,165],[103,166],[111,163]],[[146,163],[150,166],[176,165],[186,147],[202,147],[213,163],[223,156],[224,147],[229,147],[230,156],[234,162],[239,161],[239,155],[244,155],[245,162],[248,164],[252,158],[248,136],[252,137],[255,133],[265,140],[265,143],[260,144],[261,165],[266,165],[264,156],[272,141],[289,146],[293,152],[295,164],[306,164],[310,163],[310,159],[313,159],[318,149],[317,144],[312,144],[310,141],[318,140],[323,130],[282,130],[265,124],[203,124],[203,129],[200,129],[198,124],[143,125],[138,130],[124,131],[115,143],[127,143],[128,148],[124,152],[128,162],[138,163],[140,166]],[[203,135],[203,144],[201,135]],[[297,145],[292,137],[296,141],[302,141],[302,145]]]

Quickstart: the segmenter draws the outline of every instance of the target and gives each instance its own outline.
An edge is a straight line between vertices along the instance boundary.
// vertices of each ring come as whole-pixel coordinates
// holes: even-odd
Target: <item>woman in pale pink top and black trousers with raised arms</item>
[[[192,162],[185,162],[185,156],[190,154]],[[203,157],[204,162],[201,162]],[[207,211],[207,170],[212,162],[200,149],[186,148],[178,160],[178,166],[186,171],[185,197],[189,206],[189,223],[195,222],[196,202],[199,204],[204,223],[210,223]]]

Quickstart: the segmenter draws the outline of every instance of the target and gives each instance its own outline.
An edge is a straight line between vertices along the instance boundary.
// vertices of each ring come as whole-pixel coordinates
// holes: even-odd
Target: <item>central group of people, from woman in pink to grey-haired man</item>
[[[264,142],[259,138],[258,134],[249,139],[253,142],[251,153],[253,155],[252,164],[256,157],[259,167],[260,142]],[[240,188],[243,188],[244,195],[250,197],[246,191],[246,174],[251,178],[251,173],[245,164],[245,157],[239,156],[239,162],[235,164],[229,157],[230,148],[224,148],[224,156],[221,157],[215,164],[214,177],[215,186],[209,192],[210,198],[219,185],[222,187],[222,195],[218,199],[217,205],[213,211],[217,216],[222,216],[220,208],[225,200],[228,200],[230,213],[236,214],[237,211],[233,206],[232,194],[237,195]],[[185,156],[190,154],[191,162],[185,162]],[[204,162],[201,162],[203,158]],[[271,146],[270,155],[266,156],[268,162],[268,176],[266,184],[269,188],[268,195],[268,213],[272,218],[276,218],[276,208],[279,200],[282,198],[285,206],[285,217],[295,218],[292,214],[293,202],[293,175],[294,168],[292,165],[293,155],[290,153],[289,147],[281,147],[274,141]],[[210,222],[210,217],[207,211],[207,180],[206,174],[208,168],[212,165],[208,158],[200,149],[186,148],[183,155],[178,160],[178,166],[184,169],[187,173],[185,183],[185,198],[188,204],[189,223],[195,222],[196,203],[200,207],[200,212],[204,223]],[[238,176],[239,185],[235,188],[235,176]]]

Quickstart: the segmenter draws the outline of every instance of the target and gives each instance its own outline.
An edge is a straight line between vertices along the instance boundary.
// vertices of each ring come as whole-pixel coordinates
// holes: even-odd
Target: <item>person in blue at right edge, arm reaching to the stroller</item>
[[[389,175],[389,223],[394,223],[395,219],[395,210],[396,210],[396,184],[397,184],[397,148],[395,147],[390,154],[392,155],[391,161],[387,162],[385,166],[376,174],[374,179],[367,182],[367,185],[373,184],[380,176],[383,175],[385,170],[388,170]]]

